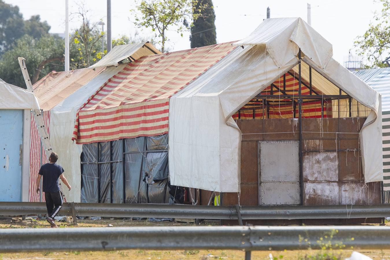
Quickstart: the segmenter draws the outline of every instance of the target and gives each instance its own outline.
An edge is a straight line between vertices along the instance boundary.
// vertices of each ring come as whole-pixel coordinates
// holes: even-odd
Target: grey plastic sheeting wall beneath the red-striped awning
[[[100,164],[82,164],[82,202],[173,202],[169,199],[167,134],[83,145],[82,162],[97,161]]]

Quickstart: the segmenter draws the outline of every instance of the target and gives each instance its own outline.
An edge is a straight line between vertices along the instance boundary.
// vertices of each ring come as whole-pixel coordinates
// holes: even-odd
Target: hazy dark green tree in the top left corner
[[[50,30],[48,23],[41,22],[39,15],[32,16],[27,21],[19,7],[6,4],[0,0],[0,55],[12,47],[12,44],[25,34],[39,39]]]

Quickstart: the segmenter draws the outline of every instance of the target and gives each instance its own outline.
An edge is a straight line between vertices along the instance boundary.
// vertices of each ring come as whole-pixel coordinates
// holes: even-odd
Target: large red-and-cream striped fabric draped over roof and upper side
[[[234,48],[227,42],[135,60],[78,110],[72,140],[92,143],[168,133],[169,98]]]

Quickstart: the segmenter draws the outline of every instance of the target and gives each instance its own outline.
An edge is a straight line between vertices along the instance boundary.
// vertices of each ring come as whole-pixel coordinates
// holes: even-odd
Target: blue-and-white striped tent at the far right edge
[[[382,95],[383,190],[390,203],[390,68],[363,69],[354,74]]]

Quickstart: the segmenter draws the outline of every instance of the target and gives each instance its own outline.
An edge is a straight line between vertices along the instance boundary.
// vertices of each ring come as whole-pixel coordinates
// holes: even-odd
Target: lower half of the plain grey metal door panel
[[[299,182],[262,182],[261,205],[299,205]]]

